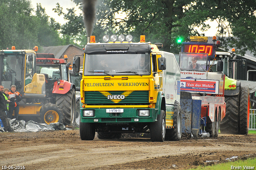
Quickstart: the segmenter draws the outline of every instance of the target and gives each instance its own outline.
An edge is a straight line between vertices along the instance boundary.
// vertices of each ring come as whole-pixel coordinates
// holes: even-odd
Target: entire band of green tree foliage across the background
[[[218,22],[221,48],[236,48],[256,54],[256,1],[255,0],[72,0],[82,10],[82,4],[96,2],[96,21],[92,35],[103,42],[104,34],[132,34],[134,42],[140,35],[146,41],[161,42],[165,51],[178,53],[178,39],[188,41],[189,36],[204,36],[195,28],[207,30],[206,20]],[[45,13],[40,4],[32,9],[29,0],[1,0],[0,48],[12,45],[20,48],[74,44],[84,47],[87,41],[82,13],[74,8],[63,12],[57,3],[54,11],[67,22],[60,25]],[[32,11],[36,14],[33,15]],[[120,18],[119,14],[124,14]],[[228,24],[227,24],[228,23]],[[215,34],[215,33],[213,33]],[[228,37],[224,38],[224,35]],[[214,36],[214,35],[212,35]],[[223,37],[223,38],[222,38]]]

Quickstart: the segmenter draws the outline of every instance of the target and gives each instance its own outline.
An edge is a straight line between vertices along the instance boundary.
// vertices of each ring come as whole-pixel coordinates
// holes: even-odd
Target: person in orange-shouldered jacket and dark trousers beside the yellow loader
[[[16,118],[16,120],[18,120],[18,116],[19,116],[19,112],[20,112],[20,101],[21,101],[21,95],[19,92],[16,92],[16,86],[15,85],[12,85],[11,86],[11,90],[10,92],[8,92],[9,96],[11,94],[15,94],[15,95],[11,95],[11,96],[14,96],[14,97],[11,97],[9,100],[10,100],[10,103],[9,103],[9,112],[8,112],[8,115],[7,117],[9,119],[12,119],[12,113],[14,111],[14,118]]]

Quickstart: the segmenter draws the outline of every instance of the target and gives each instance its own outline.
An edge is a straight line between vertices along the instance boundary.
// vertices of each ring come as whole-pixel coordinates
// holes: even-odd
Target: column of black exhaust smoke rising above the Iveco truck
[[[87,37],[92,35],[94,23],[96,21],[96,2],[97,0],[83,0],[84,26]]]

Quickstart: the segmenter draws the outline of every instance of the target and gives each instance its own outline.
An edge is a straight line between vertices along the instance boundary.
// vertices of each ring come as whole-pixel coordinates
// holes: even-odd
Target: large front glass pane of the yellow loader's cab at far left
[[[24,57],[25,55],[11,53],[1,56],[1,84],[4,88],[10,88],[12,85],[16,85],[16,90],[22,90],[22,78],[24,71]]]

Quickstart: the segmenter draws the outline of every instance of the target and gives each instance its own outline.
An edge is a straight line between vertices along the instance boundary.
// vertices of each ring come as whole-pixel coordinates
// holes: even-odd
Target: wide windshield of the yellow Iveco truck
[[[107,74],[106,74],[107,73]],[[137,74],[136,74],[137,73]],[[85,76],[150,75],[149,54],[86,54]]]

